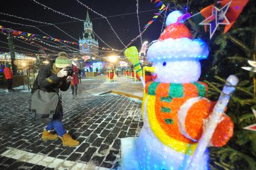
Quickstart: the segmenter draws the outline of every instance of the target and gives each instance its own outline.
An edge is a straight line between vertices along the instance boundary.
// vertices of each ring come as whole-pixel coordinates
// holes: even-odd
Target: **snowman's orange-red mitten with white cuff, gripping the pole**
[[[216,102],[210,102],[210,100],[202,97],[187,100],[178,112],[181,133],[192,141],[199,141],[204,132],[204,125],[210,119],[214,105]],[[225,145],[233,135],[233,127],[231,119],[223,114],[222,121],[214,131],[210,145],[214,147]]]

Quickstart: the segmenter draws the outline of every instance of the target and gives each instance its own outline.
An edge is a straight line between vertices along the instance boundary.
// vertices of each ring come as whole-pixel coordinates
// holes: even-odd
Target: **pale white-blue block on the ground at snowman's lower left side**
[[[136,156],[137,138],[129,137],[121,139],[121,169],[139,170],[139,162]]]

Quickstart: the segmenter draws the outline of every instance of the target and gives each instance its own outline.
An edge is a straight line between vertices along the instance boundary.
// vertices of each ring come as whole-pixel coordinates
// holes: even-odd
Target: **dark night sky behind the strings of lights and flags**
[[[78,4],[76,0],[54,0],[54,1],[53,0],[44,0],[44,1],[37,0],[37,1],[41,2],[42,4],[48,7],[53,8],[54,10],[63,12],[69,16],[73,16],[83,20],[86,19],[87,8],[81,4]],[[93,10],[97,11],[98,13],[106,17],[119,15],[119,14],[134,13],[134,14],[126,14],[123,16],[108,17],[108,20],[113,26],[114,30],[119,35],[120,39],[125,44],[128,44],[130,40],[132,40],[137,35],[139,35],[139,27],[138,27],[137,14],[136,14],[136,0],[129,0],[129,1],[80,0],[80,1],[83,4],[88,5],[90,8],[92,8]],[[155,10],[155,11],[148,11],[148,10]],[[76,39],[82,36],[83,22],[77,21],[75,19],[70,19],[69,17],[62,16],[61,14],[54,13],[53,11],[45,9],[41,5],[36,4],[31,0],[3,1],[0,5],[0,11],[2,13],[13,14],[19,17],[25,17],[32,20],[54,23],[55,25],[57,25],[58,27],[63,29],[65,32],[72,35],[72,37],[75,37]],[[157,8],[155,7],[155,4],[150,2],[150,0],[140,0],[139,11],[147,11],[147,12],[139,13],[140,26],[143,30],[144,25],[146,25],[146,23],[152,19],[152,17],[154,16],[154,13],[157,12]],[[102,40],[104,40],[111,47],[115,49],[123,49],[122,44],[117,39],[114,32],[111,31],[107,21],[105,19],[102,19],[100,16],[98,16],[97,14],[93,13],[90,10],[89,10],[89,15],[90,15],[90,19],[93,22],[93,30],[96,32],[96,34],[98,34],[99,37],[101,37]],[[14,17],[8,17],[2,14],[0,14],[0,20],[8,20],[11,22],[18,22],[26,25],[34,25],[42,29],[42,31],[45,31],[46,33],[48,33],[54,38],[58,38],[61,40],[75,41],[69,36],[67,36],[66,34],[64,34],[63,32],[59,31],[57,28],[54,28],[54,26],[42,25],[40,23],[29,22],[27,20],[22,20],[22,19],[16,19]],[[161,17],[158,17],[158,19],[154,23],[152,23],[151,26],[149,26],[145,34],[143,34],[143,37],[142,37],[143,41],[146,41],[146,40],[152,41],[152,40],[156,40],[159,37],[161,26],[162,26],[162,23],[160,22],[160,20],[161,20]],[[63,22],[67,22],[67,23],[63,23]],[[6,22],[0,22],[0,25],[5,26],[7,28],[11,28],[11,29],[16,29],[18,31],[25,31],[33,34],[43,35],[43,33],[38,31],[36,28],[26,28],[25,26],[14,25]],[[0,40],[7,42],[6,36],[2,34],[0,34]],[[107,47],[100,40],[98,41],[99,41],[99,46]],[[28,46],[27,44],[24,44],[17,40],[14,40],[14,45],[38,50],[33,46]],[[138,38],[132,45],[136,45],[140,49],[140,46],[141,46],[140,38]],[[7,44],[3,44],[1,42],[0,42],[0,46],[8,47]],[[51,47],[49,48],[52,49]],[[19,48],[15,48],[15,49],[19,49]],[[53,49],[58,50],[55,48]],[[23,50],[23,49],[19,49],[19,50]],[[0,51],[8,52],[8,49],[2,49],[0,47]]]

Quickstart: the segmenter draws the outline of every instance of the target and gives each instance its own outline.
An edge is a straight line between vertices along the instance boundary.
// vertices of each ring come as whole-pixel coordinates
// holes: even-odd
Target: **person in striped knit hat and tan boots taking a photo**
[[[44,65],[40,69],[37,79],[34,82],[32,93],[35,93],[36,90],[41,90],[43,93],[56,93],[58,95],[57,108],[55,109],[55,112],[52,115],[52,119],[49,121],[48,126],[43,129],[42,139],[54,140],[59,136],[63,142],[63,146],[75,147],[79,145],[79,142],[72,139],[69,133],[67,133],[67,130],[64,130],[63,128],[63,108],[61,105],[61,96],[59,94],[59,90],[66,91],[69,88],[70,77],[67,76],[68,71],[66,68],[70,66],[71,62],[67,58],[67,53],[58,53],[58,57],[55,59],[55,62],[50,62],[48,65]],[[35,100],[33,97],[31,99]],[[40,107],[40,105],[37,107]],[[48,107],[50,108],[51,106]],[[58,135],[52,135],[50,133],[52,130],[55,130]]]

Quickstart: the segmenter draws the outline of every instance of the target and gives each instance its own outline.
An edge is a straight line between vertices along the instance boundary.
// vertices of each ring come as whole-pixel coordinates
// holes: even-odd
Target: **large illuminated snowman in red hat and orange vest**
[[[207,58],[208,46],[193,40],[190,30],[177,23],[181,15],[180,11],[169,14],[166,29],[147,52],[153,65],[146,69],[154,81],[146,84],[143,98],[144,124],[136,150],[141,169],[188,169],[216,104],[205,98],[207,85],[198,82],[199,60]],[[231,119],[220,117],[209,146],[222,147],[233,136]],[[207,151],[193,167],[208,169]]]

